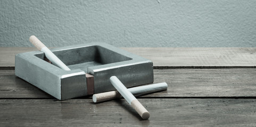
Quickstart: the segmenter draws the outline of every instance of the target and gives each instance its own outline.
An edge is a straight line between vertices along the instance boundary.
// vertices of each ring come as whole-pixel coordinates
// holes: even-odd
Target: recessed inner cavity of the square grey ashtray
[[[53,53],[70,69],[81,69],[85,72],[87,72],[88,67],[132,60],[132,58],[123,56],[101,46],[57,50],[53,51]],[[45,59],[44,53],[38,53],[35,56],[40,59]]]

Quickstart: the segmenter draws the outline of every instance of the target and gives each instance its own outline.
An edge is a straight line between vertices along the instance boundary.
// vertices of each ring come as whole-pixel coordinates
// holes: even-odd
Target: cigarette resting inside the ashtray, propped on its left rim
[[[62,68],[63,70],[70,70],[59,58],[57,58],[54,53],[49,50],[37,37],[31,35],[29,41],[34,44],[34,46],[45,53],[46,58],[48,58],[53,65]]]

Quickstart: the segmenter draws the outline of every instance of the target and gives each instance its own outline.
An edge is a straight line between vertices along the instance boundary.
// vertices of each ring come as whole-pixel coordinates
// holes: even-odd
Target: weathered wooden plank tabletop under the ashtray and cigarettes
[[[122,48],[154,64],[168,90],[138,97],[142,120],[124,100],[59,101],[14,75],[16,53],[0,48],[0,126],[256,126],[256,48]]]

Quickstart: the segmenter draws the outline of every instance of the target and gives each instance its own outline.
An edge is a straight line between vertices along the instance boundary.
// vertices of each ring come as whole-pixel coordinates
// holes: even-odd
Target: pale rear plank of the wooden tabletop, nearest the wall
[[[155,67],[247,67],[256,66],[256,48],[122,48],[153,61]],[[36,48],[0,47],[0,67],[14,67],[14,56]]]

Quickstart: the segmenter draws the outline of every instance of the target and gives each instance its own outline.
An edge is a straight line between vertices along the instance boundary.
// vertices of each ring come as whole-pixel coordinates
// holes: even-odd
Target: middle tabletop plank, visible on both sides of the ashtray
[[[168,90],[142,97],[256,97],[256,69],[155,69],[154,83],[166,82]],[[42,90],[14,76],[14,70],[0,70],[0,98],[52,98]]]

